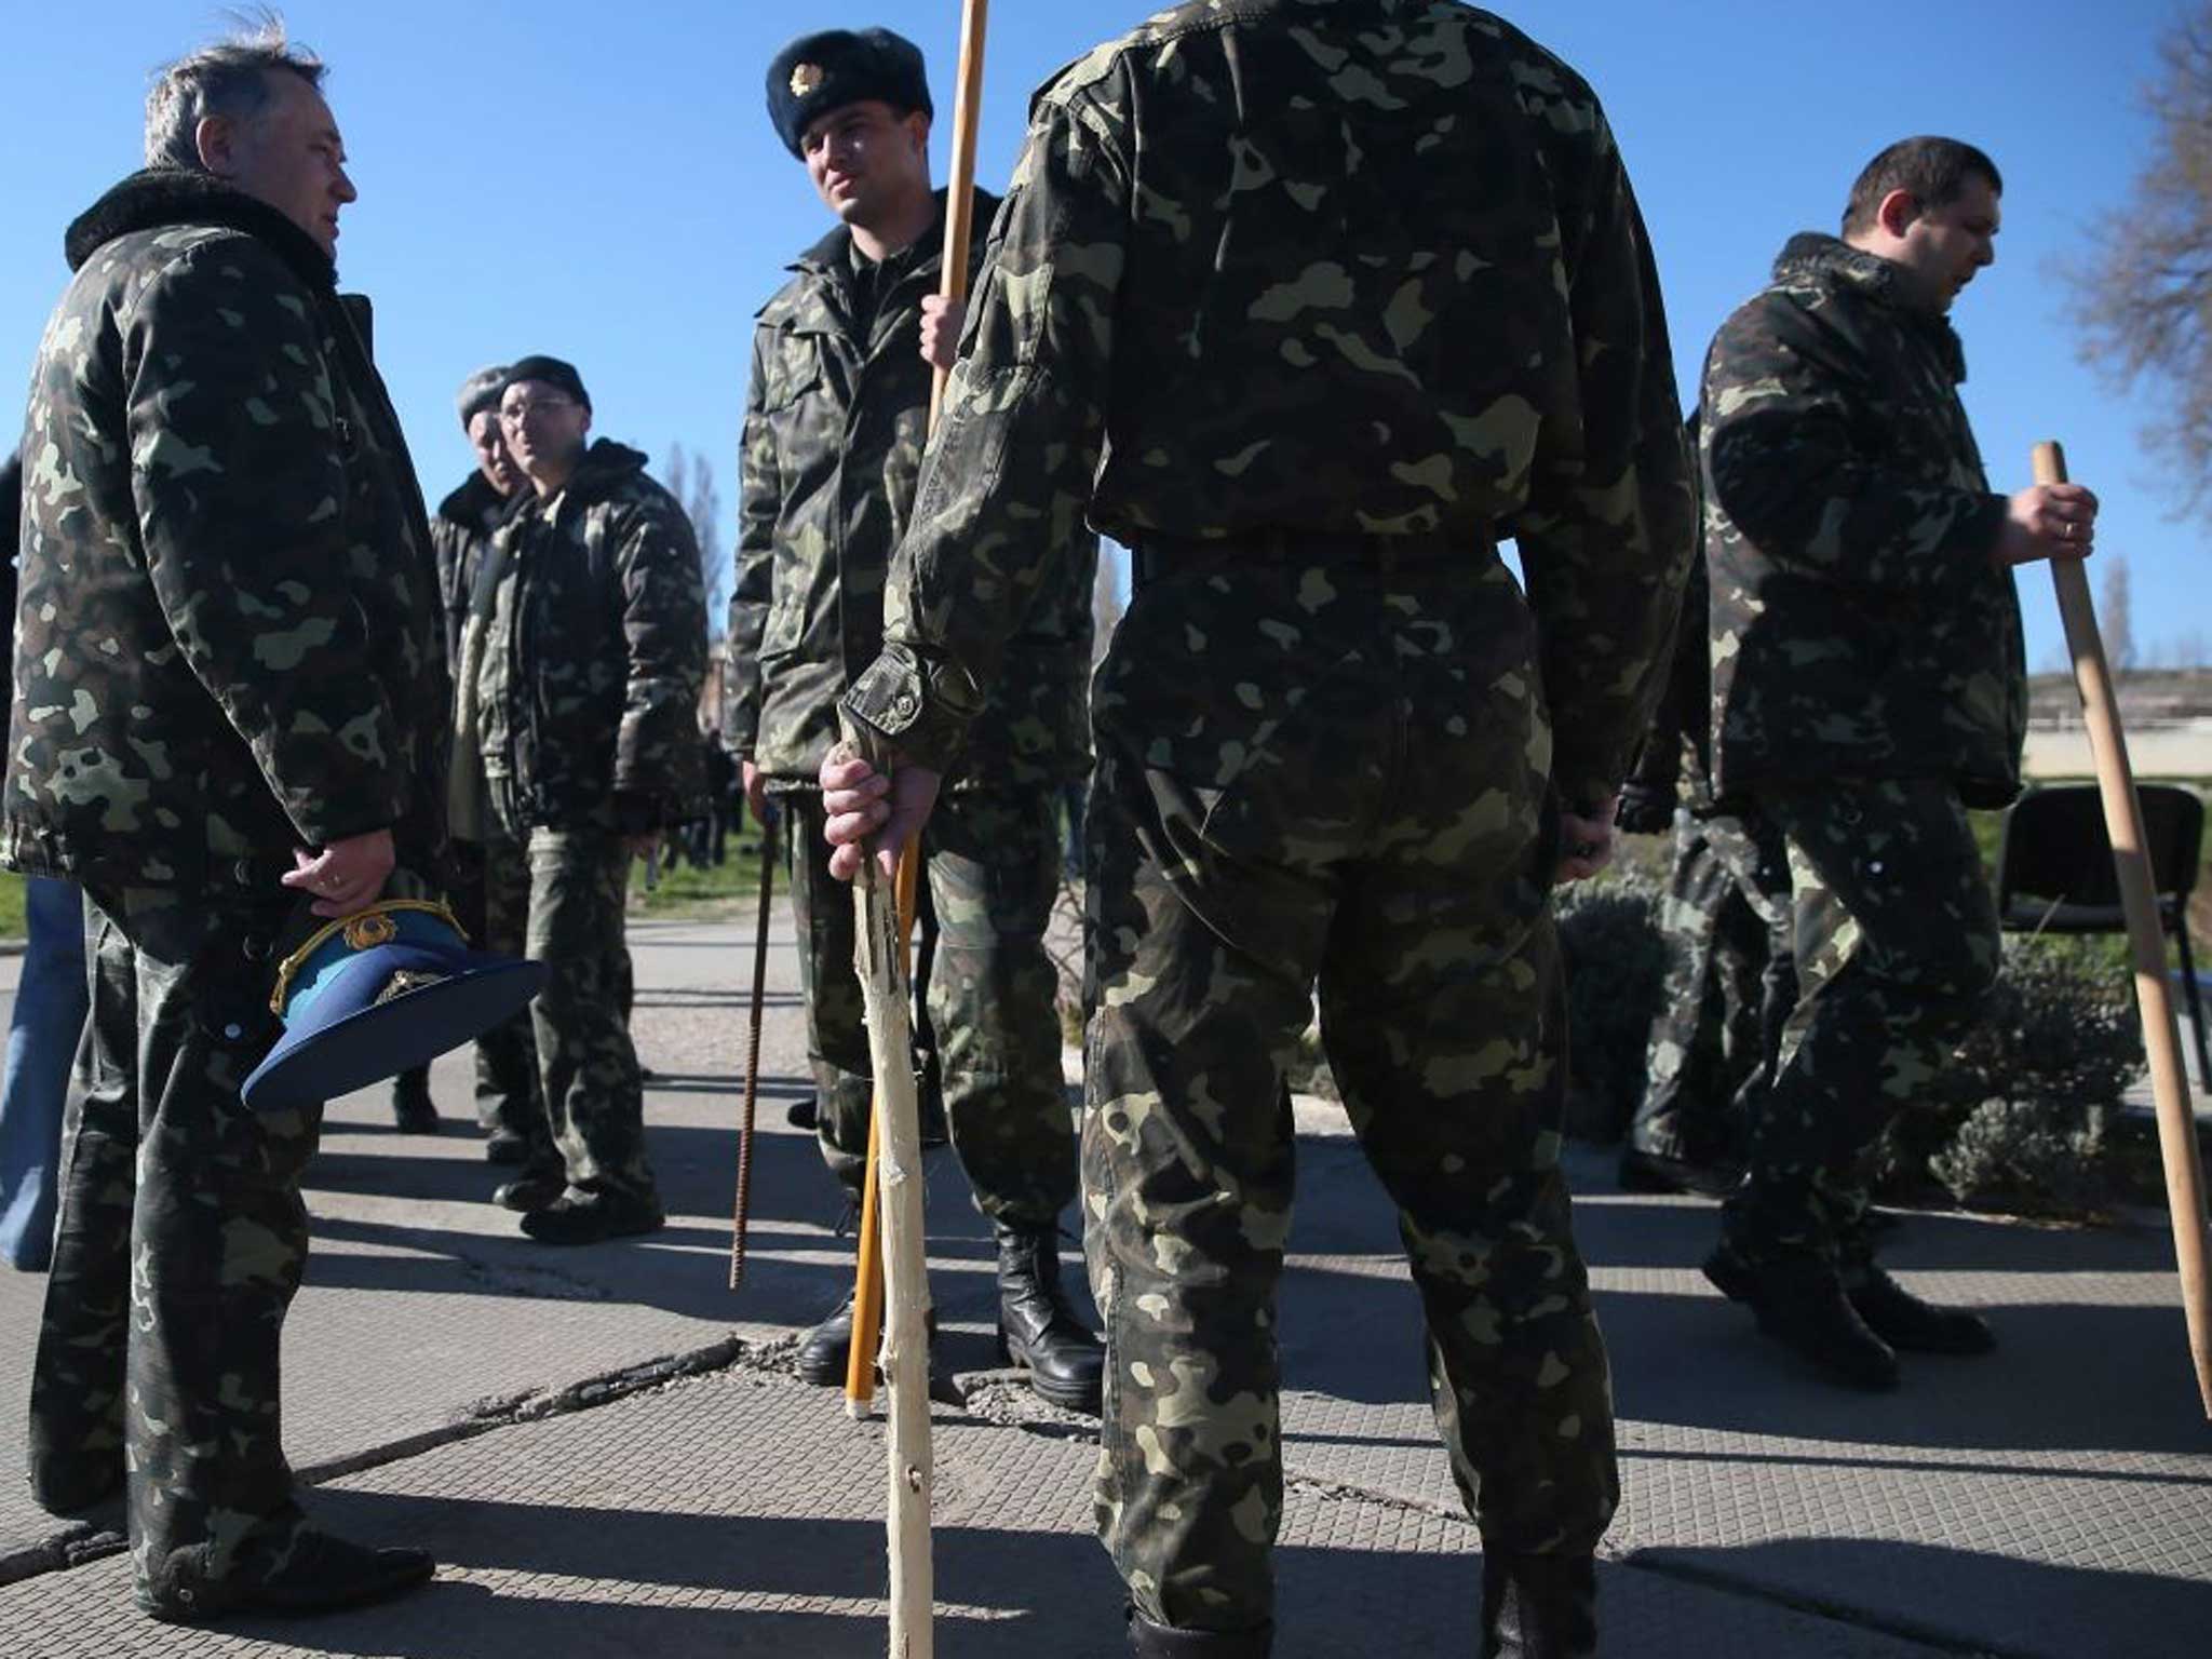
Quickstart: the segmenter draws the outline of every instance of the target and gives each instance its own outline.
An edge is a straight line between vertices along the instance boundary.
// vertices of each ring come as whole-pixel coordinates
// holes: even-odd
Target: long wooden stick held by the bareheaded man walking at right
[[[2066,453],[2035,445],[2035,482],[2064,484]],[[2174,1261],[2181,1267],[2181,1310],[2188,1316],[2190,1358],[2197,1394],[2212,1418],[2212,1274],[2205,1270],[2205,1177],[2197,1152],[2197,1117],[2190,1108],[2188,1073],[2181,1068],[2181,1026],[2166,987],[2166,933],[2159,927],[2157,883],[2143,836],[2143,803],[2135,794],[2128,737],[2119,728],[2119,699],[2104,661],[2097,608],[2088,597],[2081,560],[2051,560],[2059,593],[2066,646],[2075,659],[2075,688],[2088,726],[2104,825],[2112,836],[2112,867],[2119,902],[2128,916],[2128,953],[2135,958],[2135,1006],[2143,1015],[2143,1053],[2150,1060],[2150,1099],[2159,1113],[2159,1152],[2166,1159],[2166,1203],[2174,1219]],[[2181,918],[2188,927],[2188,918]]]

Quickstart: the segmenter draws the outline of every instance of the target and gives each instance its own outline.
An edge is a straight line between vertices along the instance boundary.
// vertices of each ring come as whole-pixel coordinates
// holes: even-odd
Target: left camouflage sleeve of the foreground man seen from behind
[[[1086,102],[1046,102],[991,232],[960,363],[891,560],[883,655],[845,695],[945,770],[1082,522],[1106,429],[1128,168]]]

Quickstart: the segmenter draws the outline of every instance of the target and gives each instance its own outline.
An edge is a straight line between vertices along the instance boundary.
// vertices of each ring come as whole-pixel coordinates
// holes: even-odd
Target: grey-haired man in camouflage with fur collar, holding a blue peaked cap
[[[31,1491],[126,1486],[137,1599],[179,1621],[431,1573],[294,1504],[279,1336],[321,1110],[239,1102],[288,929],[442,836],[429,526],[336,292],[354,188],[319,80],[276,31],[164,71],[150,166],[69,228],[24,427],[0,856],[80,883],[93,947]]]

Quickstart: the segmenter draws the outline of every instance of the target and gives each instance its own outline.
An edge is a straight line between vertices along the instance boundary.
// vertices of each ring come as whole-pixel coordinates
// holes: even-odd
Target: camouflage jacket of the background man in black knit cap
[[[699,542],[641,453],[602,438],[564,489],[524,498],[484,553],[476,615],[484,776],[511,834],[697,812]]]

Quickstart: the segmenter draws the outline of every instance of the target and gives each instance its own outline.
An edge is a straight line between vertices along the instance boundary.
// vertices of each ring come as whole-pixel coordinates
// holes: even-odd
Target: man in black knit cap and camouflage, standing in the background
[[[588,442],[568,363],[509,367],[500,427],[531,495],[471,593],[462,726],[482,761],[489,947],[522,945],[551,973],[531,1000],[549,1139],[495,1199],[540,1243],[595,1243],[666,1221],[619,995],[622,911],[630,858],[703,792],[706,591],[684,507],[639,451]]]

